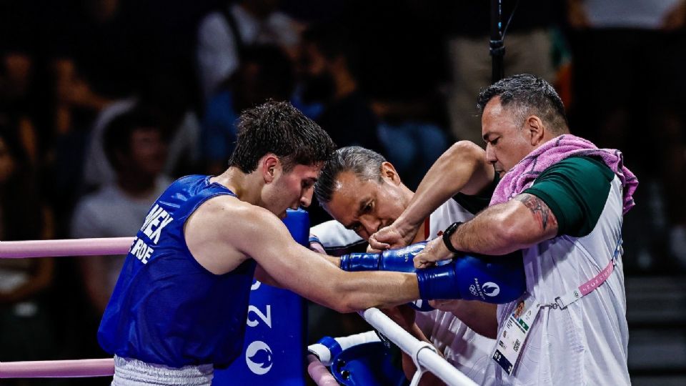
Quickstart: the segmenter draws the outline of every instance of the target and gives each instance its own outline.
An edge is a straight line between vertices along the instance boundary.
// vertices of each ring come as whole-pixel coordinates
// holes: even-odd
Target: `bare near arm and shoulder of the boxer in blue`
[[[186,233],[189,227],[202,227],[205,244],[224,251],[226,267],[216,267],[212,272],[230,272],[241,259],[252,257],[284,288],[339,312],[419,299],[414,274],[344,272],[295,242],[283,222],[266,209],[232,197],[212,199],[207,204],[213,207],[201,208],[205,210],[197,213],[201,216],[193,223],[187,223]]]

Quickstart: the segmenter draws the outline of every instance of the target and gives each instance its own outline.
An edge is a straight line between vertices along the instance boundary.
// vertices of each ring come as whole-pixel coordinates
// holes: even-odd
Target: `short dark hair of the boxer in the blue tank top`
[[[326,162],[336,145],[324,129],[288,102],[269,100],[245,110],[238,122],[236,149],[229,167],[254,172],[264,154],[276,154],[289,172],[296,165]]]

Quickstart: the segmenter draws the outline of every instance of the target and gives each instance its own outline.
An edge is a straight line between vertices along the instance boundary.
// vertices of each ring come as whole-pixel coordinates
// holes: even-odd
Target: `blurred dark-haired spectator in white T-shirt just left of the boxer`
[[[104,152],[116,181],[81,199],[71,237],[126,237],[136,234],[150,205],[171,182],[161,174],[167,139],[154,116],[139,110],[114,118],[104,132]],[[81,272],[96,319],[107,305],[124,256],[81,259]]]

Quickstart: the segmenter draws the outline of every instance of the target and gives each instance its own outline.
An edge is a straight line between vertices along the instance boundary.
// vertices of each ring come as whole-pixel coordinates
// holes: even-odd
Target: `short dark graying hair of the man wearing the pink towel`
[[[569,131],[565,105],[555,88],[545,79],[532,74],[519,74],[497,81],[479,93],[477,108],[483,113],[486,104],[500,97],[503,107],[510,107],[515,116],[524,122],[530,115],[540,117],[552,132]]]

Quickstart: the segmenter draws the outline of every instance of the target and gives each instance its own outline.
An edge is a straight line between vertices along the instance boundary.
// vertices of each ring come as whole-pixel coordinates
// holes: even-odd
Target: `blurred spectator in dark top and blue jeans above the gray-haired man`
[[[449,145],[434,3],[347,1],[344,16],[359,53],[360,88],[379,119],[379,139],[408,187],[417,187]]]

